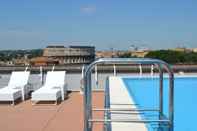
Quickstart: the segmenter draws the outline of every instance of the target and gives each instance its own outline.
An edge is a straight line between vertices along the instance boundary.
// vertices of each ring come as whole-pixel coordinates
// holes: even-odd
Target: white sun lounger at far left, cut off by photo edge
[[[12,105],[18,98],[22,98],[24,101],[30,91],[28,88],[29,75],[29,71],[12,72],[8,85],[0,89],[0,101],[11,101]]]

